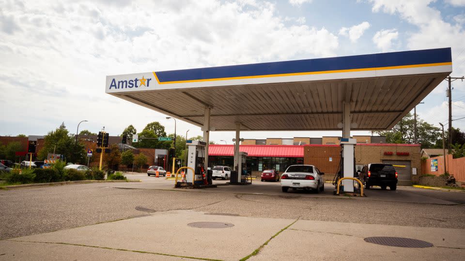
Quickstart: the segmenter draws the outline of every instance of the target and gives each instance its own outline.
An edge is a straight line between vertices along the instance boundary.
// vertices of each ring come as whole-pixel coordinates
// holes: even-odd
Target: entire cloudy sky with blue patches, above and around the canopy
[[[44,135],[62,121],[76,131],[81,120],[110,135],[151,121],[173,132],[165,115],[105,94],[106,75],[452,47],[458,77],[464,43],[465,0],[0,0],[0,135]],[[417,107],[435,126],[448,118],[446,86]],[[453,118],[464,117],[465,82],[453,87]],[[465,130],[465,119],[453,126]],[[186,130],[202,134],[178,120]],[[217,143],[233,136],[211,133]]]

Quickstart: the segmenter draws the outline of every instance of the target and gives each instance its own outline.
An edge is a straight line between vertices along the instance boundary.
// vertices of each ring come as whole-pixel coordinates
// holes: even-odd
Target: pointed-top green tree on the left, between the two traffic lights
[[[64,126],[64,122],[55,131],[49,131],[45,136],[45,143],[38,153],[38,158],[44,160],[48,153],[64,155],[68,162],[85,162],[86,153],[84,145],[80,142],[75,143],[75,137],[70,135],[69,131]]]

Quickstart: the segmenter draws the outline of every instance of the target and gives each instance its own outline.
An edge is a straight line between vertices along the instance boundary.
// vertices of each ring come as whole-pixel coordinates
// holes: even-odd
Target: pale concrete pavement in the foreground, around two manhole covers
[[[461,229],[205,214],[192,210],[156,212],[3,240],[0,260],[462,260],[465,256],[465,230]],[[234,226],[187,225],[192,222]],[[413,238],[434,246],[380,246],[363,240],[369,236]],[[251,255],[256,249],[258,253]]]

